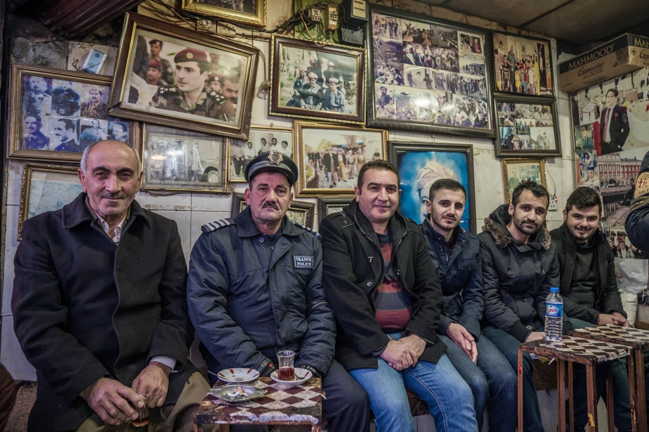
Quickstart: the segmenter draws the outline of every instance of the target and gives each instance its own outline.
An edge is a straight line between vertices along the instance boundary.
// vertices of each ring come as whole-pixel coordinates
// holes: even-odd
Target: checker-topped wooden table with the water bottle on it
[[[565,363],[568,363],[568,386],[569,386],[569,411],[570,431],[574,428],[574,403],[572,401],[572,364],[579,363],[586,367],[586,395],[587,395],[587,418],[588,431],[597,431],[597,400],[595,391],[595,369],[596,363],[615,360],[619,357],[629,355],[631,349],[628,346],[593,339],[583,339],[568,335],[564,336],[561,342],[533,341],[519,344],[518,358],[518,430],[523,430],[523,352],[537,355],[545,355],[555,359],[557,363],[557,398],[559,409],[559,427],[566,424],[565,411]],[[609,378],[610,379],[610,378]],[[614,431],[614,426],[609,418],[609,431]]]

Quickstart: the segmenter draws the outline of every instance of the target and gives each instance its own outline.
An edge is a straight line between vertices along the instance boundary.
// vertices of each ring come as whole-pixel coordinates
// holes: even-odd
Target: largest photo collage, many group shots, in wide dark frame
[[[484,40],[373,12],[374,115],[489,128]]]

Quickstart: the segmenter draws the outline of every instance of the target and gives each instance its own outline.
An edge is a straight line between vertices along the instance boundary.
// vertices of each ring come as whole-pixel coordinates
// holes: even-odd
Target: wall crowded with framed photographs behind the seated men
[[[517,180],[545,178],[559,204],[574,189],[570,99],[557,91],[554,41],[507,29],[496,52],[487,30],[495,23],[472,19],[477,24],[467,26],[450,11],[422,13],[430,6],[416,2],[399,10],[371,5],[363,47],[290,34],[257,38],[256,32],[265,35],[263,19],[271,29],[293,13],[289,1],[280,3],[266,8],[267,2],[257,1],[234,13],[240,21],[224,18],[234,28],[243,22],[257,29],[252,36],[240,31],[237,43],[190,37],[187,32],[197,32],[193,23],[145,1],[137,10],[145,19],[127,28],[134,35],[128,47],[73,40],[62,50],[60,42],[41,43],[49,63],[34,66],[27,54],[14,58],[8,87],[12,112],[20,115],[11,117],[5,132],[5,287],[12,283],[19,223],[76,193],[74,168],[91,133],[126,140],[140,151],[145,180],[136,199],[177,221],[187,259],[202,224],[242,209],[242,169],[261,150],[295,157],[300,178],[291,215],[316,229],[319,219],[352,199],[360,167],[374,158],[401,165],[402,210],[419,219],[426,185],[441,175],[457,178],[471,193],[463,226],[472,231],[481,230]],[[233,13],[216,6],[208,12]],[[149,21],[161,17],[162,27]],[[171,38],[169,27],[177,25],[184,30]],[[500,49],[500,41],[507,49]],[[205,53],[206,84],[225,100],[210,99],[205,115],[186,115],[182,127],[169,122],[179,117],[173,91],[159,90],[177,86],[174,59],[184,49]],[[502,87],[503,77],[509,87]],[[66,87],[62,97],[57,89]],[[158,105],[150,105],[156,94]],[[73,112],[64,112],[63,105],[75,103]],[[103,104],[119,104],[119,113],[106,116]],[[101,118],[82,114],[91,106]],[[71,119],[73,127],[61,127],[59,117]],[[74,145],[60,147],[64,134]],[[548,213],[547,220],[548,228],[556,228],[561,212]],[[9,296],[5,289],[3,329],[12,328]],[[14,378],[32,379],[33,369],[9,333],[3,333],[0,362]]]

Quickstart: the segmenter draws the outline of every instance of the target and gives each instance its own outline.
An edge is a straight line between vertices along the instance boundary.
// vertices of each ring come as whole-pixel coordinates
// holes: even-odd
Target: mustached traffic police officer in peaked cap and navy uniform
[[[286,154],[263,152],[246,165],[248,206],[202,226],[191,251],[190,318],[210,379],[223,368],[277,370],[276,353],[322,377],[331,432],[369,431],[365,390],[334,360],[336,323],[322,287],[320,235],[286,216],[298,176]],[[230,426],[259,431],[265,426]]]

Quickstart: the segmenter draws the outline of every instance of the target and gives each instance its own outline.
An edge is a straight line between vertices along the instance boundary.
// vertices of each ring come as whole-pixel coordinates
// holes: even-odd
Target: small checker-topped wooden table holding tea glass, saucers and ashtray
[[[226,385],[217,382],[215,387]],[[230,403],[211,393],[206,394],[194,416],[197,430],[204,425],[219,425],[226,432],[228,424],[310,424],[312,432],[322,427],[322,381],[312,378],[302,385],[288,387],[269,377],[246,383],[267,393],[260,398]],[[205,430],[213,430],[207,427]]]

